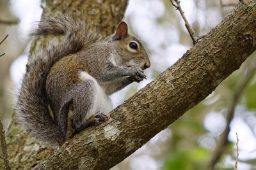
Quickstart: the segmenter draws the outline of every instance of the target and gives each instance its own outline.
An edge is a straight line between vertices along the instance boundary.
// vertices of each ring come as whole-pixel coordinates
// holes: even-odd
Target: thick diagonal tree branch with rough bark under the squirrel
[[[172,67],[67,141],[38,167],[109,169],[198,104],[256,49],[256,4],[244,0]],[[67,164],[68,162],[68,164]]]

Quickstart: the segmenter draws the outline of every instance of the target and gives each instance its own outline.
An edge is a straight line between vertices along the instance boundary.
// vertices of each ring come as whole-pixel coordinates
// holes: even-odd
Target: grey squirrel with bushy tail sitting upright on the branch
[[[147,78],[147,51],[127,31],[122,21],[114,34],[101,39],[79,11],[42,17],[31,35],[57,36],[58,41],[31,53],[15,107],[31,136],[58,148],[70,136],[109,117],[109,95]]]

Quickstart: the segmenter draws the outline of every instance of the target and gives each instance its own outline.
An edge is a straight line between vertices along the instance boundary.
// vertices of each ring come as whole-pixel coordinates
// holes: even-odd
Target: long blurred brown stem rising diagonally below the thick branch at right
[[[216,146],[214,154],[212,155],[212,158],[209,162],[209,169],[214,169],[215,164],[218,162],[218,160],[220,160],[221,155],[223,154],[226,146],[228,145],[228,133],[230,132],[230,122],[234,118],[234,112],[235,112],[237,101],[239,100],[239,97],[241,96],[244,88],[252,78],[255,71],[256,71],[256,66],[254,65],[252,69],[250,69],[247,72],[246,76],[244,76],[243,80],[241,80],[241,84],[239,85],[236,93],[232,98],[230,108],[228,108],[228,111],[227,111],[227,125],[225,127],[225,130],[223,131],[220,142]]]

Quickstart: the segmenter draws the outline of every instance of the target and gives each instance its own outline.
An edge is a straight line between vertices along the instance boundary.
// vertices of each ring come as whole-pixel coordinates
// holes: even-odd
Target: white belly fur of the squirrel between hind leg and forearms
[[[98,111],[101,111],[105,115],[108,115],[108,113],[111,110],[113,110],[113,104],[111,102],[111,99],[106,94],[106,92],[102,89],[102,87],[100,87],[97,80],[95,80],[95,78],[90,76],[90,74],[88,74],[86,71],[81,71],[80,78],[83,81],[93,80],[93,82],[95,83],[95,87],[96,87],[96,89],[95,89],[96,96],[95,96],[95,99],[93,102],[93,106],[92,106],[90,113],[88,113],[86,115],[86,118],[91,117],[93,114],[97,113]]]

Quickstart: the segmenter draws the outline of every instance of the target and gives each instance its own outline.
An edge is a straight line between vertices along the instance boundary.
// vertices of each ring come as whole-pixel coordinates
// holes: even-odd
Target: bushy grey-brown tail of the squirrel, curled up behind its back
[[[26,68],[16,104],[16,113],[27,132],[48,145],[58,146],[65,140],[49,111],[45,81],[53,64],[70,53],[76,53],[99,37],[85,17],[73,13],[53,13],[42,18],[33,36],[60,35],[60,41],[50,41],[46,47],[31,53],[33,60]]]

